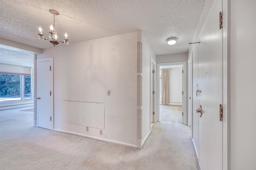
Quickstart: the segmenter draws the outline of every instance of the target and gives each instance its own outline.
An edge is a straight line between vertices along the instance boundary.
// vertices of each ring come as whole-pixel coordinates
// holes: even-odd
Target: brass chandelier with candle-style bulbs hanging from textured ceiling
[[[49,10],[49,12],[51,14],[53,14],[53,26],[51,25],[50,26],[50,32],[49,32],[49,38],[44,38],[44,35],[42,34],[42,28],[41,26],[39,26],[39,34],[38,34],[38,39],[42,38],[43,40],[49,40],[50,43],[53,44],[53,46],[55,45],[58,45],[59,43],[66,43],[68,45],[68,34],[65,33],[65,39],[64,41],[58,41],[57,38],[58,38],[58,35],[57,35],[57,31],[55,30],[55,15],[59,15],[59,12],[56,11],[56,10]]]

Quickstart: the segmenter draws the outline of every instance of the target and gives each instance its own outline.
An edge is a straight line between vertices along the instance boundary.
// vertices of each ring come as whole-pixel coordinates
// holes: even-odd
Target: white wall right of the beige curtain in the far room
[[[169,76],[170,104],[182,105],[182,68],[170,68]]]

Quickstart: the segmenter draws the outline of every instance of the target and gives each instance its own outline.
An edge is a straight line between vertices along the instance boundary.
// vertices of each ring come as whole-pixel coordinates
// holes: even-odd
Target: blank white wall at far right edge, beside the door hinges
[[[231,1],[231,169],[256,169],[256,1]],[[246,24],[246,26],[244,25]]]

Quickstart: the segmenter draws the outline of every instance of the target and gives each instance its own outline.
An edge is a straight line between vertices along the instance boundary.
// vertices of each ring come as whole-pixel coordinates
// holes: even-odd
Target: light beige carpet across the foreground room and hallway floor
[[[0,129],[1,170],[198,170],[181,123],[155,123],[141,150],[33,127],[19,109],[0,111]]]

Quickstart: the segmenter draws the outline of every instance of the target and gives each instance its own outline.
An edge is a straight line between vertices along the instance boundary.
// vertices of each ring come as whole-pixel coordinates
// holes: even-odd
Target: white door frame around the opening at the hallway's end
[[[183,98],[184,101],[182,103],[183,106],[183,117],[182,117],[182,123],[184,125],[187,125],[187,62],[181,61],[181,62],[172,62],[172,63],[157,63],[156,64],[156,121],[160,121],[160,66],[172,66],[172,65],[183,65],[184,66],[184,73],[183,73],[183,83],[184,87],[183,90]]]

